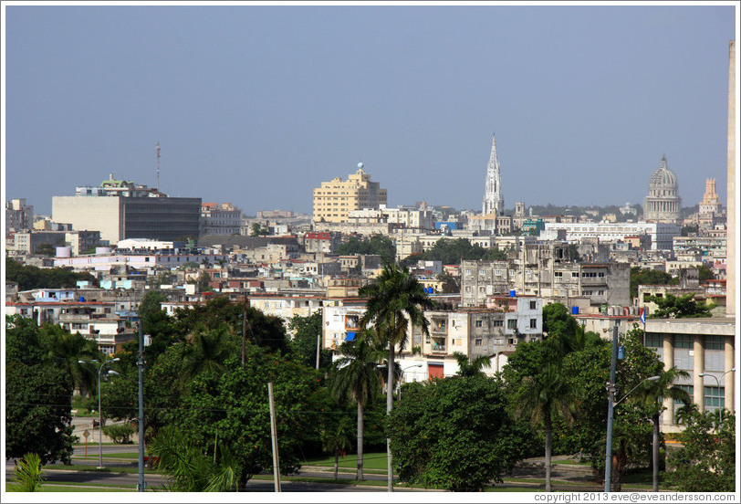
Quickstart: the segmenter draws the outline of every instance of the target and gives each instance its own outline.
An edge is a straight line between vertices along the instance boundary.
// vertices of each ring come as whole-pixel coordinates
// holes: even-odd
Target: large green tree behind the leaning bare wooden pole
[[[170,424],[186,441],[213,456],[214,439],[229,446],[239,467],[239,487],[272,467],[267,383],[274,383],[277,442],[281,472],[300,466],[300,447],[317,432],[322,404],[322,374],[253,344],[246,346],[245,365],[227,360],[222,374],[200,373],[187,383],[180,405],[171,409]]]

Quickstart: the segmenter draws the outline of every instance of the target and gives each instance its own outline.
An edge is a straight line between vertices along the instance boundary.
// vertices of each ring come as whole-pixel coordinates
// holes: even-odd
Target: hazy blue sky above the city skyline
[[[725,202],[736,9],[7,6],[5,198],[116,178],[245,213],[310,213],[363,162],[389,205]]]

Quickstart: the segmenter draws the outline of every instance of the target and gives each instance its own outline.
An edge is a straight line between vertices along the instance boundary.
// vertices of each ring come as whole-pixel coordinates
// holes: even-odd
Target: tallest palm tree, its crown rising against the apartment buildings
[[[434,303],[427,297],[422,284],[409,269],[395,264],[383,265],[381,275],[369,285],[360,288],[358,295],[366,299],[366,311],[360,319],[360,325],[367,327],[372,324],[378,343],[382,346],[388,345],[389,348],[386,414],[391,415],[395,349],[398,346],[403,350],[406,346],[407,328],[410,323],[412,326],[422,328],[423,334],[429,334],[430,322],[424,317],[423,310],[432,309]],[[390,446],[391,439],[386,438],[389,491],[393,491]]]

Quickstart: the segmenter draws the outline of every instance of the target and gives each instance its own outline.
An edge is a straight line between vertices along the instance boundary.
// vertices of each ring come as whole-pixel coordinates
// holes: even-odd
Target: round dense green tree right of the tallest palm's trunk
[[[404,388],[387,429],[402,481],[478,491],[501,483],[525,456],[529,442],[518,436],[495,380],[462,376]]]

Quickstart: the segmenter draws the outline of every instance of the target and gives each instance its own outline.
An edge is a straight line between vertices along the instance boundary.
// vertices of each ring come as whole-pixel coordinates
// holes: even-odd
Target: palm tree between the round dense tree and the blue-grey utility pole
[[[544,373],[523,379],[517,399],[517,413],[529,415],[534,425],[543,425],[546,436],[546,491],[549,492],[554,416],[559,416],[570,425],[574,418],[574,393],[560,369],[548,365]]]

